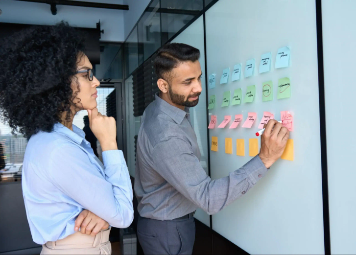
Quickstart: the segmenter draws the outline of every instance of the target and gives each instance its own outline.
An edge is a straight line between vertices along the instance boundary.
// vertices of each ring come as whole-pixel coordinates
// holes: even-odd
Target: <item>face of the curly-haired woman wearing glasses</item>
[[[88,57],[86,55],[81,55],[78,58],[78,67],[77,70],[88,70],[93,69],[92,64],[90,63]],[[79,93],[74,98],[73,103],[80,110],[92,110],[97,106],[96,98],[97,98],[97,90],[96,87],[100,85],[100,82],[93,77],[93,80],[89,80],[88,72],[77,73],[75,74],[77,81],[73,79],[71,84],[73,93],[78,91],[79,84]]]

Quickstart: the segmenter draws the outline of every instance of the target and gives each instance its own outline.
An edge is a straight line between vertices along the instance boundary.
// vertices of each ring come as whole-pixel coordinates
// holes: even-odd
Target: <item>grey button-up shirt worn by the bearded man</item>
[[[142,217],[171,220],[197,208],[214,214],[245,194],[267,172],[259,156],[212,181],[185,111],[156,95],[144,111],[137,139],[135,193]]]

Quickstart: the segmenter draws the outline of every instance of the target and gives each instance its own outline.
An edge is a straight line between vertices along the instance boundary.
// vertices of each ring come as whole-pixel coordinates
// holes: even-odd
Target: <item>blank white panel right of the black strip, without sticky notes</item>
[[[332,254],[356,253],[355,10],[355,0],[322,0]]]

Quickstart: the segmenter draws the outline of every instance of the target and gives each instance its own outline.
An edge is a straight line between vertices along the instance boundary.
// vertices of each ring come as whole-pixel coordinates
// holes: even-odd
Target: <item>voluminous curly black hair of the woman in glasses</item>
[[[70,107],[79,92],[74,75],[83,54],[83,37],[65,22],[31,26],[2,39],[0,114],[12,132],[26,137],[50,132],[55,123],[62,122],[64,112],[64,120],[71,120]]]

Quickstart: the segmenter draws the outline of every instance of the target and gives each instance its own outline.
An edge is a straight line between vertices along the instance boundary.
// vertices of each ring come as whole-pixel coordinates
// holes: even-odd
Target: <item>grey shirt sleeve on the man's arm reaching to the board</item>
[[[170,137],[158,142],[151,155],[152,167],[209,214],[217,213],[245,194],[267,172],[260,157],[256,156],[229,176],[212,181],[184,137]]]

